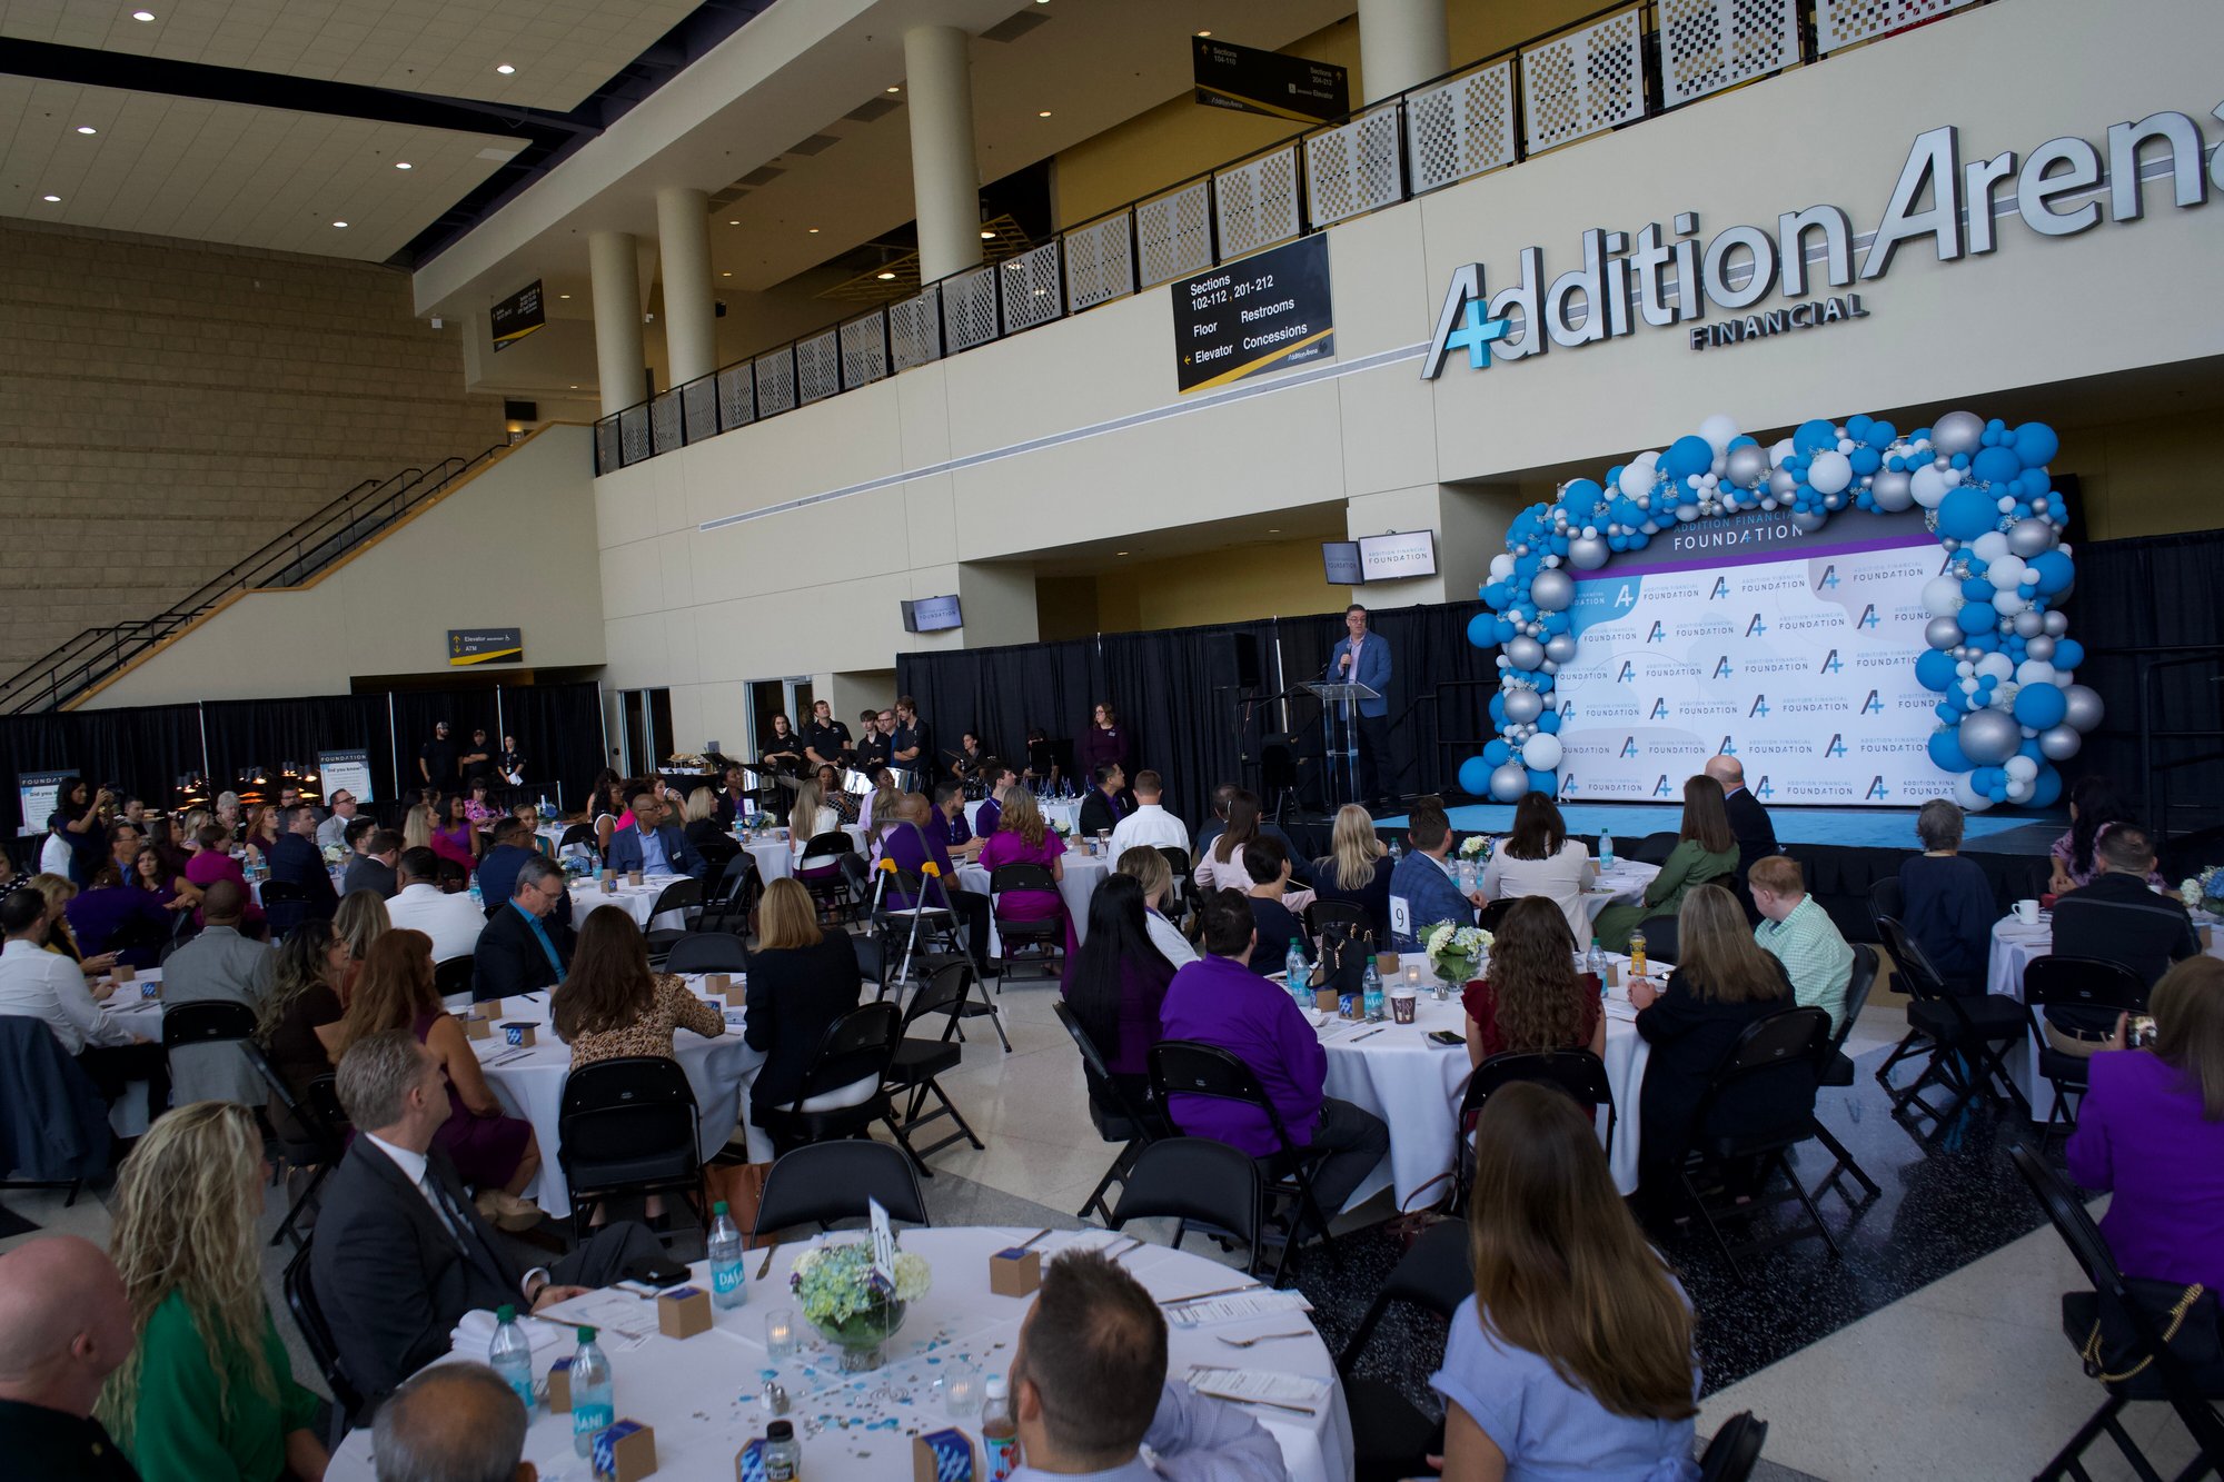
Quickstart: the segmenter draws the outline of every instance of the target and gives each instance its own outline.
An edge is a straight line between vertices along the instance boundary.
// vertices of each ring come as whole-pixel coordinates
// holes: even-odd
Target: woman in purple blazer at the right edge
[[[2071,1177],[2113,1190],[2099,1228],[2124,1275],[2224,1286],[2224,961],[2188,957],[2146,1001],[2153,1050],[2088,1064]]]

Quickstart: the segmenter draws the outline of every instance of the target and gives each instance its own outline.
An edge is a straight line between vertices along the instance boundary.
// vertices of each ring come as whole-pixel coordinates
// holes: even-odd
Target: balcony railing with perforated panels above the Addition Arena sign
[[[761,423],[1993,0],[1639,0],[594,425],[594,472]]]

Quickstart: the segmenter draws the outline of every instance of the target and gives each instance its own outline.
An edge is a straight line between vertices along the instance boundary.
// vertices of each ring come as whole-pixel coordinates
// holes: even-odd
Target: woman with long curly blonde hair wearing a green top
[[[96,1415],[145,1482],[320,1482],[318,1397],[262,1300],[262,1135],[231,1101],[158,1119],[116,1179],[136,1342]]]

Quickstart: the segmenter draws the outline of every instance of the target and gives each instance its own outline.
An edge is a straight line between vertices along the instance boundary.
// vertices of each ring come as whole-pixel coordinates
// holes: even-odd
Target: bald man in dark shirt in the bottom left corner
[[[116,1264],[49,1235],[0,1255],[0,1458],[11,1478],[138,1482],[93,1420],[100,1384],[131,1353]]]

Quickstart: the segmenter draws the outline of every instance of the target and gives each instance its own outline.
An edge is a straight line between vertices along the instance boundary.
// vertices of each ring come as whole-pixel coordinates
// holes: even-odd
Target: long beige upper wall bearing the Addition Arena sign
[[[2206,58],[2220,49],[2224,9],[2204,0],[2151,0],[2135,20],[2015,0],[1341,225],[1328,234],[1339,363],[1428,340],[1466,263],[1483,263],[1492,287],[1512,280],[1528,245],[1543,247],[1548,276],[1579,267],[1586,227],[1635,234],[1697,211],[1712,236],[1837,202],[1866,234],[1930,125],[1962,129],[1964,160],[2062,134],[2104,140],[2111,122],[2157,109],[2204,120],[2215,145]],[[1975,100],[1970,56],[1997,58],[2019,85]],[[1879,111],[1879,98],[1928,102]],[[1299,505],[1341,503],[1352,532],[1439,527],[1441,579],[1368,587],[1361,601],[1470,596],[1506,514],[1543,494],[1548,472],[1604,474],[1712,412],[1788,429],[1817,414],[1928,418],[1970,405],[2022,421],[2042,407],[2066,429],[2057,472],[2084,472],[2086,458],[2099,470],[2093,534],[2213,525],[2204,485],[2186,476],[2200,414],[2079,436],[2131,416],[2122,396],[2086,387],[2137,378],[2155,405],[2180,405],[2162,392],[2213,383],[2224,356],[2224,314],[2204,289],[2224,207],[2177,209],[2153,185],[2146,202],[2146,220],[2057,240],[2010,216],[1990,256],[1959,263],[1904,247],[1886,278],[1861,285],[1870,316],[1828,329],[1695,354],[1681,329],[1639,325],[1488,372],[1459,363],[1439,381],[1421,381],[1417,358],[1308,367],[1217,405],[1174,392],[1168,292],[1110,303],[600,478],[614,683],[669,683],[676,708],[678,692],[701,690],[707,734],[734,734],[716,719],[723,685],[885,668],[919,648],[896,599],[952,590],[950,570]],[[1130,416],[1143,421],[1110,427]],[[878,487],[845,492],[865,483]],[[698,527],[732,516],[752,518]],[[1305,561],[1319,581],[1317,554]],[[1128,601],[1099,583],[1099,610],[1125,616]],[[1214,616],[1261,616],[1272,601],[1261,592],[1234,603],[1248,612]],[[1141,592],[1132,603],[1132,623],[1163,623]],[[1323,605],[1314,587],[1297,610]],[[1072,605],[1045,621],[1039,603],[1039,632],[1076,621]],[[992,639],[939,643],[967,641]]]

